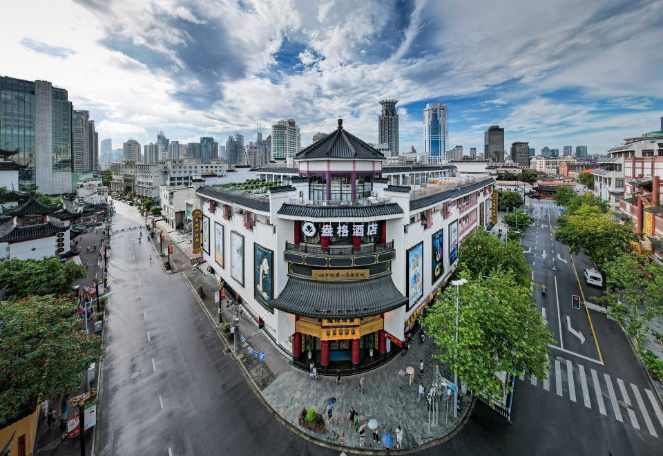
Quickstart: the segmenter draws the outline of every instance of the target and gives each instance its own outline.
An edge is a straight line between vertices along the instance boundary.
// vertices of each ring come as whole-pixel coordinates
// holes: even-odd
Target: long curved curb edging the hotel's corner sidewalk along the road
[[[198,293],[195,292],[195,288],[193,287],[193,284],[189,280],[189,277],[187,277],[186,274],[184,274],[184,272],[179,272],[178,274],[182,274],[184,276],[184,278],[186,278],[186,281],[189,282],[189,286],[191,286],[191,293],[193,294],[193,296],[195,296],[195,299],[198,302],[198,305],[202,308],[204,314],[207,316],[210,323],[214,327],[214,331],[215,331],[216,335],[222,341],[223,345],[229,350],[229,354],[231,355],[231,358],[233,359],[233,362],[236,365],[238,365],[238,370],[242,374],[242,377],[244,377],[244,379],[247,381],[247,383],[249,385],[249,388],[251,388],[251,390],[253,390],[253,393],[256,395],[256,397],[258,397],[260,402],[262,402],[262,405],[265,406],[265,408],[267,409],[267,412],[269,412],[270,415],[272,415],[274,418],[276,418],[276,420],[280,424],[285,426],[288,430],[290,430],[292,433],[296,434],[298,437],[300,437],[302,439],[305,439],[307,441],[311,441],[312,443],[314,443],[318,446],[323,446],[325,448],[330,448],[332,450],[338,450],[338,451],[342,451],[342,452],[343,451],[348,451],[348,452],[358,454],[358,455],[383,455],[384,454],[384,450],[362,450],[361,448],[356,448],[354,446],[343,446],[343,445],[338,445],[338,444],[332,444],[329,441],[318,439],[316,437],[313,437],[312,435],[309,435],[308,433],[305,433],[300,428],[298,428],[298,427],[294,426],[293,424],[291,424],[290,421],[288,421],[287,419],[282,417],[282,415],[275,408],[273,408],[271,403],[269,403],[269,401],[267,401],[267,399],[265,399],[265,396],[262,395],[262,391],[260,390],[260,388],[258,388],[258,386],[256,385],[256,382],[253,380],[253,378],[251,378],[251,375],[247,371],[247,368],[244,366],[244,364],[242,364],[242,362],[237,359],[237,357],[235,355],[235,352],[233,352],[233,350],[230,346],[230,343],[226,339],[224,339],[223,335],[221,334],[221,332],[219,330],[219,327],[218,327],[218,323],[216,323],[213,316],[209,313],[209,310],[207,310],[207,308],[205,307],[204,302],[202,301],[200,296],[198,296]],[[461,421],[459,422],[458,426],[456,426],[456,428],[454,428],[454,430],[452,430],[447,435],[444,435],[443,437],[440,437],[439,439],[434,439],[434,440],[431,440],[431,441],[427,441],[424,444],[414,446],[412,448],[403,448],[401,450],[390,450],[390,454],[393,453],[394,455],[410,455],[410,454],[413,454],[413,453],[417,453],[421,450],[425,450],[426,448],[432,448],[433,446],[443,444],[445,441],[448,441],[448,440],[452,439],[463,429],[463,427],[465,427],[465,424],[468,422],[468,420],[470,419],[470,416],[472,415],[472,410],[474,410],[474,405],[476,403],[477,403],[477,398],[472,397],[472,402],[470,403],[470,408],[468,409],[468,412],[465,413],[465,417],[463,417],[463,419],[461,419]]]

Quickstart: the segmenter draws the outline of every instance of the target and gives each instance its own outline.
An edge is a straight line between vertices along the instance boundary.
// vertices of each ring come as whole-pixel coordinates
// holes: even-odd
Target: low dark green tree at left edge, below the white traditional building
[[[7,298],[67,294],[73,291],[74,281],[85,276],[84,267],[55,256],[43,260],[10,258],[0,263],[0,283],[7,285]]]

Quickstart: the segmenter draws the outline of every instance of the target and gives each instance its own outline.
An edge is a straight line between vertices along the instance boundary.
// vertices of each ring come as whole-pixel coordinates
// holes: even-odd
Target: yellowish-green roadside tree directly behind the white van
[[[635,240],[632,224],[620,223],[611,213],[588,205],[560,218],[555,238],[577,254],[584,250],[596,265],[613,260],[624,251],[631,250]]]

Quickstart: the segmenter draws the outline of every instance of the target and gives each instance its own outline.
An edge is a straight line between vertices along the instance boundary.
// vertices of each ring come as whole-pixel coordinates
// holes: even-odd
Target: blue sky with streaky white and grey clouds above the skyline
[[[245,140],[292,118],[302,145],[377,142],[399,100],[400,149],[423,150],[422,110],[448,109],[449,149],[483,131],[604,153],[660,129],[663,0],[22,0],[0,15],[0,75],[45,79],[113,149],[157,132]]]

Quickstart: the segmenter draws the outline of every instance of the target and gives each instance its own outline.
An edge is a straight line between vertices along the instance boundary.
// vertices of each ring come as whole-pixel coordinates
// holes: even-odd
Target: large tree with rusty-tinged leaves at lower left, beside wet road
[[[99,336],[77,330],[77,303],[66,296],[30,296],[3,303],[0,341],[0,422],[12,422],[37,399],[75,391],[102,356]]]

